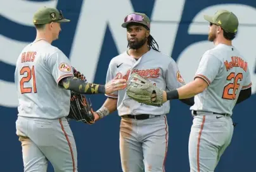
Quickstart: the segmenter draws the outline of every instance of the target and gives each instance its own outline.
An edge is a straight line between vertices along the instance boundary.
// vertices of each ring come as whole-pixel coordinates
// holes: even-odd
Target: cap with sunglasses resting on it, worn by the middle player
[[[150,18],[146,16],[144,13],[131,13],[128,14],[125,19],[124,23],[122,24],[123,28],[127,28],[129,23],[140,23],[141,25],[147,26],[150,29]]]

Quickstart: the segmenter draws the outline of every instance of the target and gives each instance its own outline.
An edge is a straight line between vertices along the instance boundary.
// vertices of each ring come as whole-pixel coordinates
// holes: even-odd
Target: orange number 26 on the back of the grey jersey
[[[222,98],[227,99],[227,100],[235,100],[236,99],[236,91],[238,90],[238,88],[240,86],[240,84],[238,83],[238,80],[241,81],[243,79],[243,74],[238,73],[235,75],[234,72],[231,72],[227,76],[227,81],[231,81],[232,79],[233,79],[233,82],[227,84],[223,90]],[[232,93],[229,93],[230,89],[232,89]]]

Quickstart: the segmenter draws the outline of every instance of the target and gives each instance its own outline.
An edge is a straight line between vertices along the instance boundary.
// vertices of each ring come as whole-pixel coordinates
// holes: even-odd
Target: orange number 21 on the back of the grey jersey
[[[35,84],[35,67],[29,67],[29,66],[23,66],[20,70],[20,75],[24,75],[27,73],[27,76],[23,76],[20,80],[20,92],[23,93],[32,93],[32,87],[34,93],[37,93],[37,86]],[[33,80],[33,86],[32,87],[25,87],[24,83],[29,83],[30,80]]]

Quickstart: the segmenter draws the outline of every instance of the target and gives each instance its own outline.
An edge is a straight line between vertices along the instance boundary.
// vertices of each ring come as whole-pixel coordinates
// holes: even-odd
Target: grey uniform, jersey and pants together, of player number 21
[[[46,171],[48,161],[55,171],[77,171],[75,139],[65,118],[70,91],[58,86],[67,76],[74,76],[68,58],[45,40],[30,43],[18,57],[16,135],[25,171]]]

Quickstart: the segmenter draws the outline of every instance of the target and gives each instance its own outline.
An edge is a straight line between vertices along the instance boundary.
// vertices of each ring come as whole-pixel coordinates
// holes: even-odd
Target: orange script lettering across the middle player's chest
[[[139,76],[144,77],[144,78],[157,78],[160,76],[160,69],[143,69],[143,70],[138,70],[138,69],[133,69],[132,70],[132,74],[133,73],[137,73],[139,74]],[[126,79],[128,80],[129,76],[131,74],[131,70],[128,70],[125,74],[125,76],[122,75],[121,72],[118,72],[116,75],[117,79]]]

